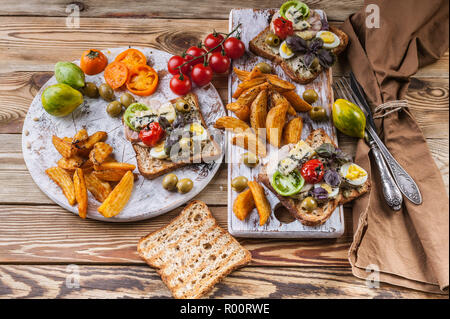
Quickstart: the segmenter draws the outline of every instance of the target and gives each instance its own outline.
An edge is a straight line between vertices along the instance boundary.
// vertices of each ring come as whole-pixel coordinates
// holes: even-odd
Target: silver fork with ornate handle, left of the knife
[[[354,95],[352,94],[350,85],[348,84],[346,79],[344,80],[338,80],[335,84],[333,84],[336,93],[338,93],[338,95],[341,98],[344,98],[359,106],[359,103],[356,101]],[[371,118],[368,118],[367,112],[362,107],[359,106],[359,108],[363,111],[367,121],[372,121]],[[389,171],[389,168],[386,165],[386,162],[384,161],[380,149],[378,148],[376,142],[373,140],[371,134],[368,132],[367,128],[364,134],[364,139],[366,140],[367,144],[370,146],[370,149],[372,150],[375,163],[377,164],[378,171],[380,172],[381,186],[386,203],[393,210],[396,211],[400,210],[403,202],[402,193],[400,192],[400,189],[395,183],[395,180],[392,177],[391,172]]]

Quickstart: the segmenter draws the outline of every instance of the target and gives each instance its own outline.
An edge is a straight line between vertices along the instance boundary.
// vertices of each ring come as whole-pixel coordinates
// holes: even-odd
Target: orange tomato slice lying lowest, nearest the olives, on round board
[[[148,66],[136,66],[129,74],[127,89],[136,95],[147,96],[153,94],[158,86],[158,73]]]

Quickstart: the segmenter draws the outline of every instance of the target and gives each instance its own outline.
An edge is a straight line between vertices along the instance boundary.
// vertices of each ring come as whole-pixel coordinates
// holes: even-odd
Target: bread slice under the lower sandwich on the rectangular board
[[[314,149],[319,147],[323,143],[330,143],[334,147],[337,147],[333,140],[323,129],[312,131],[305,142]],[[362,194],[367,193],[370,189],[370,182],[369,180],[367,180],[367,182],[361,187],[345,190],[345,196],[341,190],[339,192],[339,195],[334,200],[326,202],[324,205],[319,206],[313,212],[308,212],[302,209],[300,200],[281,196],[273,189],[269,181],[269,177],[266,173],[265,167],[261,170],[261,173],[259,173],[258,181],[263,183],[273,194],[275,194],[275,196],[277,196],[281,204],[286,207],[286,209],[294,218],[298,219],[303,225],[306,226],[317,226],[325,223],[328,218],[330,218],[331,214],[333,214],[338,205],[352,201]]]

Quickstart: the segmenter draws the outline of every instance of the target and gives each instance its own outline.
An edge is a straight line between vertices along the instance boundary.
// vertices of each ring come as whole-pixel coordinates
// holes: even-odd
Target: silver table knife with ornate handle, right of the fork
[[[369,119],[369,121],[368,121],[369,125],[367,126],[367,131],[369,132],[370,136],[374,139],[375,143],[379,147],[381,154],[383,155],[384,159],[386,160],[386,164],[388,165],[389,169],[391,170],[391,173],[395,179],[395,182],[397,183],[398,187],[400,188],[400,191],[411,202],[413,202],[416,205],[420,205],[422,203],[422,195],[420,193],[419,187],[417,186],[414,179],[395,160],[395,158],[389,152],[387,147],[384,145],[384,143],[378,137],[378,134],[375,131],[375,123],[373,121],[372,110],[371,110],[369,104],[367,103],[367,100],[364,95],[364,91],[361,88],[361,85],[356,80],[356,77],[353,74],[353,72],[350,72],[350,82],[351,82],[350,85],[359,100],[357,102],[359,102],[359,104],[365,109],[365,111],[367,113],[367,118]]]

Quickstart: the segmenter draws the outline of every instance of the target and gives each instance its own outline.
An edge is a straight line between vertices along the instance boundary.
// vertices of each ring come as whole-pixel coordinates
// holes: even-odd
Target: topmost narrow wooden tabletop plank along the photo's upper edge
[[[274,8],[279,7],[284,0],[216,0],[214,5],[210,1],[196,1],[195,5],[186,5],[185,1],[172,0],[170,5],[164,0],[148,1],[118,1],[94,0],[76,1],[81,18],[194,18],[194,19],[228,19],[232,8]],[[17,2],[3,0],[0,15],[8,16],[55,16],[66,17],[66,8],[69,3],[64,0],[50,0],[45,6],[38,0]],[[330,20],[343,21],[353,12],[363,6],[363,0],[310,0],[307,1],[311,8],[323,9],[328,13]],[[81,22],[82,23],[82,22]]]

